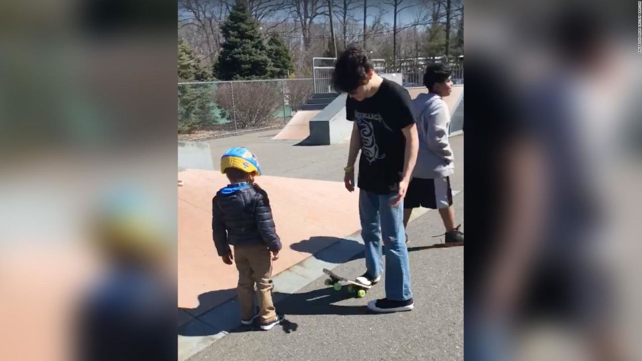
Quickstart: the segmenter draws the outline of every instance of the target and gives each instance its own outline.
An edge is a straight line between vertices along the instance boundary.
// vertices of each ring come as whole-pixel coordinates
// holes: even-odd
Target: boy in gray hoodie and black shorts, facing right
[[[449,179],[455,172],[455,158],[448,142],[450,112],[442,100],[453,89],[450,70],[443,64],[428,66],[424,85],[428,94],[419,94],[413,100],[419,131],[419,155],[404,198],[404,225],[408,225],[413,208],[438,209],[446,227],[446,243],[463,243],[464,233],[459,231],[459,225],[455,226]]]

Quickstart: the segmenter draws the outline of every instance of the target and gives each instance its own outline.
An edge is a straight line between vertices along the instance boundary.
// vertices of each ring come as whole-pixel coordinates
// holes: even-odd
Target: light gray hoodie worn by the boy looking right
[[[440,178],[455,173],[455,158],[448,143],[450,112],[437,94],[419,94],[413,100],[419,131],[419,155],[412,176]]]

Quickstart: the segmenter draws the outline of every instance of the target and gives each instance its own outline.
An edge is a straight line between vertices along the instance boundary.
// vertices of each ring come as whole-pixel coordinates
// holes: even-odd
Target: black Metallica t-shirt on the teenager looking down
[[[361,134],[358,187],[379,195],[396,193],[406,150],[401,130],[415,123],[410,94],[384,79],[370,98],[358,101],[348,97],[345,111]]]

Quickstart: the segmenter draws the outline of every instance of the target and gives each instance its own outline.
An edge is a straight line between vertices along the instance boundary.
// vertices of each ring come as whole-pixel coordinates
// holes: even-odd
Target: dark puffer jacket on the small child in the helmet
[[[221,189],[212,200],[212,231],[219,256],[238,247],[265,244],[270,251],[281,249],[272,218],[268,194],[256,184],[230,191]]]

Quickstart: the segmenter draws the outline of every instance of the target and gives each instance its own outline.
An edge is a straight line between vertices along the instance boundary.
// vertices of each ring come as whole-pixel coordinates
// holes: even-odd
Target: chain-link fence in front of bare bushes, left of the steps
[[[313,89],[312,79],[178,83],[178,139],[284,127]]]

